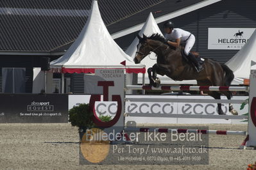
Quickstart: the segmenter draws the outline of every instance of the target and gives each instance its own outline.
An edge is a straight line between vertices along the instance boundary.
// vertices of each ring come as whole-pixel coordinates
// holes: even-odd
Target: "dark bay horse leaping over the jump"
[[[135,63],[141,63],[150,52],[157,54],[157,63],[152,68],[148,68],[149,82],[153,86],[157,86],[157,74],[167,75],[173,80],[196,80],[198,86],[230,86],[234,79],[234,73],[228,66],[218,63],[212,59],[205,59],[203,63],[205,69],[196,72],[194,66],[187,62],[182,56],[182,47],[171,47],[167,45],[164,37],[159,34],[153,34],[149,37],[143,35],[139,38],[138,51],[134,58]],[[141,47],[139,47],[141,45]],[[153,75],[151,75],[153,72]],[[207,91],[207,93],[215,98],[220,99],[221,93],[228,100],[232,97],[230,91]],[[237,114],[232,104],[229,104],[229,111]],[[218,114],[225,114],[218,104]]]

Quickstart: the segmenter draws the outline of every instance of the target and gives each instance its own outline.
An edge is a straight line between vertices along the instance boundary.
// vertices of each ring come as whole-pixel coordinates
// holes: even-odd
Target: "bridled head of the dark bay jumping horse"
[[[137,45],[136,56],[133,59],[136,64],[141,63],[141,60],[148,56],[148,54],[152,50],[152,47],[150,47],[148,43],[148,37],[146,35],[143,35],[143,37],[137,35],[137,38],[139,38],[139,44]]]

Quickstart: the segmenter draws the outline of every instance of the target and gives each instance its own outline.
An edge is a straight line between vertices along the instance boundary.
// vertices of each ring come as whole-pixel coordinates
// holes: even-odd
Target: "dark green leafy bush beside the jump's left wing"
[[[69,110],[69,122],[74,127],[78,127],[78,132],[80,134],[80,139],[83,137],[83,134],[86,132],[86,129],[94,128],[96,125],[92,121],[94,113],[90,111],[89,104],[80,104],[74,106]],[[99,116],[101,121],[110,121],[111,116]]]

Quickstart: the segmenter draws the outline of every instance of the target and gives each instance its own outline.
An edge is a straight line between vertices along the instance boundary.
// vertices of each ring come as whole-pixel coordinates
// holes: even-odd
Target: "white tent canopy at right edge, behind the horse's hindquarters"
[[[256,61],[256,30],[244,47],[231,58],[226,65],[234,72],[235,79],[232,84],[243,84],[244,79],[249,79],[251,61]]]

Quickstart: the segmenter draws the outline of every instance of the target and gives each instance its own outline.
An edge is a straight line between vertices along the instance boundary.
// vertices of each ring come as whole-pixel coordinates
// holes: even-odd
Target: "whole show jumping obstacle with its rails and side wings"
[[[100,75],[98,75],[100,76]],[[103,76],[101,76],[103,77]],[[123,79],[123,81],[121,80]],[[112,97],[117,94],[121,97],[121,101],[133,101],[133,102],[153,102],[156,100],[156,98],[124,98],[124,90],[126,89],[152,89],[152,90],[191,90],[191,91],[249,91],[248,87],[223,87],[223,86],[159,86],[158,88],[153,88],[152,86],[126,86],[124,87],[124,78],[121,77],[118,81],[117,78],[115,79],[105,79],[107,81],[112,80],[113,84],[110,87],[107,86],[107,88],[102,85],[104,83],[98,83],[101,84],[100,86],[103,86],[103,95],[108,95],[110,97],[110,94]],[[106,81],[106,82],[107,82]],[[123,83],[123,86],[120,86],[120,84]],[[104,92],[104,89],[106,92]],[[124,90],[123,90],[124,89]],[[249,116],[228,116],[228,115],[183,115],[183,114],[159,114],[157,117],[164,117],[164,118],[207,118],[207,119],[236,119],[236,120],[242,120],[248,118],[248,132],[246,131],[226,131],[226,130],[197,130],[197,129],[171,129],[171,128],[136,128],[136,127],[124,127],[124,115],[128,116],[147,116],[150,117],[152,114],[135,114],[135,113],[129,113],[126,112],[124,114],[124,107],[122,105],[121,113],[119,113],[120,108],[119,104],[117,107],[117,114],[113,120],[115,122],[110,121],[103,122],[98,119],[98,116],[96,115],[96,112],[94,111],[94,123],[96,125],[99,125],[101,127],[120,127],[122,126],[124,131],[126,132],[150,132],[150,131],[157,131],[157,132],[173,132],[176,131],[178,133],[190,133],[190,132],[196,132],[201,134],[217,134],[217,135],[246,135],[246,139],[241,145],[241,148],[246,148],[246,146],[252,146],[256,147],[256,70],[251,71],[250,75],[250,91],[249,91]],[[104,99],[104,101],[108,101],[107,98]],[[116,100],[112,100],[116,101]],[[196,103],[236,103],[241,104],[244,102],[244,100],[201,100],[201,99],[163,99],[163,98],[157,98],[157,102],[196,102]],[[94,107],[94,105],[92,105]],[[94,110],[94,109],[93,109]],[[153,117],[156,117],[155,114]]]

